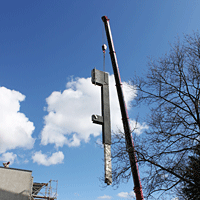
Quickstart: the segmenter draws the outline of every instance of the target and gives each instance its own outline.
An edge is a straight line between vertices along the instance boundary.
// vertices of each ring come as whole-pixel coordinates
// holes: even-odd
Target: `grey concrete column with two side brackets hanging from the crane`
[[[92,70],[92,83],[101,86],[101,110],[102,116],[92,115],[93,123],[102,125],[102,141],[104,144],[105,183],[112,184],[111,166],[111,126],[110,126],[110,102],[109,80],[106,72],[97,69]]]

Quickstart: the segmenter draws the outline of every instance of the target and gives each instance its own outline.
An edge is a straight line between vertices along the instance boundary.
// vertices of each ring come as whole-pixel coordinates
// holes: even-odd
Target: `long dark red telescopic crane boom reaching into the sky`
[[[106,36],[107,36],[107,40],[108,40],[108,46],[109,46],[109,50],[110,50],[111,62],[112,62],[112,67],[113,67],[113,71],[114,71],[114,76],[115,76],[117,95],[118,95],[118,99],[119,99],[122,121],[123,121],[124,132],[125,132],[126,148],[128,150],[128,154],[129,154],[131,171],[132,171],[133,181],[134,181],[134,186],[135,186],[134,191],[135,191],[136,199],[143,200],[144,197],[143,197],[143,191],[142,191],[142,186],[141,186],[141,182],[140,182],[137,158],[135,155],[134,144],[133,144],[133,139],[132,139],[130,125],[129,125],[129,117],[128,117],[128,112],[127,112],[127,108],[126,108],[126,103],[124,101],[122,83],[121,83],[121,78],[120,78],[120,73],[119,73],[119,68],[118,68],[118,63],[117,63],[116,52],[115,52],[115,48],[114,48],[114,44],[113,44],[109,19],[106,16],[103,16],[101,19],[104,22],[104,26],[105,26]]]

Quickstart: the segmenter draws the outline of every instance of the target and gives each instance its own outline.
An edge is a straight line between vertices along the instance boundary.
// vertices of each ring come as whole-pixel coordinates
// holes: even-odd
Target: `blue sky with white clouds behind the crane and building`
[[[199,10],[197,0],[1,1],[0,160],[32,170],[35,182],[58,180],[59,200],[128,199],[132,180],[116,190],[99,182],[101,127],[91,115],[100,114],[100,88],[90,74],[94,67],[103,70],[101,17],[110,19],[125,82],[144,74],[148,57],[167,53],[176,37],[197,31]],[[121,116],[109,52],[106,71],[117,130]],[[125,83],[124,89],[130,104],[134,93]],[[132,124],[138,112],[129,106]],[[140,128],[142,133],[145,124]]]

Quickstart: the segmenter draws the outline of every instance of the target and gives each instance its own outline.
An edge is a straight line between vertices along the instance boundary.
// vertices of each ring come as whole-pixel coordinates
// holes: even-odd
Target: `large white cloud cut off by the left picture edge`
[[[20,102],[25,96],[15,90],[0,87],[0,153],[22,147],[33,148],[35,129],[32,122],[20,113]]]

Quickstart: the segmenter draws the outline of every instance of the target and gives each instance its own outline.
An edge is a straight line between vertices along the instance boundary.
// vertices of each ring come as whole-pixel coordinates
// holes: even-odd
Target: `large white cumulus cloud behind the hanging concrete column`
[[[113,131],[123,128],[114,76],[110,79],[111,126]],[[92,114],[101,115],[101,88],[91,83],[91,78],[76,78],[66,84],[63,92],[54,91],[47,99],[47,112],[41,132],[41,144],[79,146],[88,142],[90,136],[101,134],[101,126],[93,124]],[[135,97],[133,87],[123,83],[125,101],[128,109]],[[132,120],[131,123],[134,123]],[[140,125],[138,131],[144,128]]]

